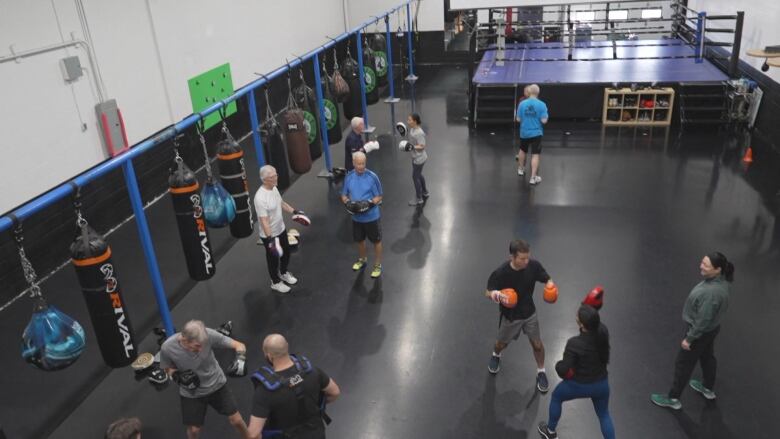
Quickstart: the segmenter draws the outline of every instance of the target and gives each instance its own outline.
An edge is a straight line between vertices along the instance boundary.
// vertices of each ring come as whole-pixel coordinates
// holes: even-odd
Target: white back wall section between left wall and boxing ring
[[[372,15],[381,14],[401,3],[398,0],[345,0],[347,4],[347,17],[349,28],[369,20]],[[412,2],[412,18],[414,18],[415,9],[419,4],[417,13],[417,28],[419,31],[442,31],[444,30],[444,0],[419,0]],[[398,28],[398,16],[390,20],[390,29],[395,31]],[[400,12],[401,27],[406,29],[406,8]],[[384,32],[385,23],[380,21],[379,26],[370,26],[369,32],[376,30]]]

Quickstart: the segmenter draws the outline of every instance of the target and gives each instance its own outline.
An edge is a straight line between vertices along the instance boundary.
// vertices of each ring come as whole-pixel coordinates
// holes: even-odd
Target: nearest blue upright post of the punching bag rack
[[[130,205],[135,214],[135,225],[138,227],[138,236],[141,238],[141,247],[144,250],[146,260],[146,269],[149,270],[149,276],[152,278],[152,287],[154,288],[154,298],[157,299],[157,309],[160,311],[165,333],[168,336],[176,333],[171,320],[171,310],[168,308],[168,297],[163,288],[162,276],[160,276],[160,266],[157,264],[157,255],[154,253],[152,236],[149,233],[149,224],[146,222],[144,214],[144,202],[141,199],[141,191],[138,189],[138,180],[135,178],[135,169],[133,160],[125,160],[122,163],[122,171],[125,174],[125,184],[127,192],[130,195]]]

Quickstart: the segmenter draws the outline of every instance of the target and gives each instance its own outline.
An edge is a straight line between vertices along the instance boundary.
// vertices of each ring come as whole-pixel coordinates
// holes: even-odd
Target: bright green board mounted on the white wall
[[[230,74],[230,63],[222,64],[208,72],[190,78],[187,81],[190,88],[190,100],[192,100],[192,112],[197,113],[216,102],[233,94],[233,76]],[[231,102],[227,106],[225,116],[236,112],[236,103]],[[206,129],[220,123],[219,112],[206,116],[204,126]]]

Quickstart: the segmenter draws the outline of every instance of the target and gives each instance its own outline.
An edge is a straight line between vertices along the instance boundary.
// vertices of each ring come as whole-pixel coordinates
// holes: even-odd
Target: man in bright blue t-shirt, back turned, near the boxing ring
[[[539,86],[531,84],[524,90],[525,99],[517,106],[516,120],[520,122],[520,151],[517,153],[517,175],[525,175],[525,156],[531,150],[531,179],[537,184],[542,177],[539,171],[539,155],[542,153],[542,125],[547,123],[547,105],[539,100]]]

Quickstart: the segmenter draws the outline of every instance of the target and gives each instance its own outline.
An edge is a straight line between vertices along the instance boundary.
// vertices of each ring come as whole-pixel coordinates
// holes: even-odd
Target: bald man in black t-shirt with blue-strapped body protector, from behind
[[[271,334],[263,341],[269,366],[252,374],[255,394],[249,437],[259,439],[263,430],[296,439],[324,439],[320,404],[338,398],[339,386],[303,356],[290,355],[287,340]],[[282,436],[284,434],[285,436]]]

